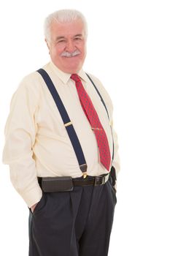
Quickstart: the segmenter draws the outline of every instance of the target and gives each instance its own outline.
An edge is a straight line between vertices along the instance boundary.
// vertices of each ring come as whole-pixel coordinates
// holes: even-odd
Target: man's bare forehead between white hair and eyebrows
[[[85,36],[85,28],[82,20],[74,20],[70,23],[58,23],[53,21],[50,27],[51,37],[74,37],[76,34]]]

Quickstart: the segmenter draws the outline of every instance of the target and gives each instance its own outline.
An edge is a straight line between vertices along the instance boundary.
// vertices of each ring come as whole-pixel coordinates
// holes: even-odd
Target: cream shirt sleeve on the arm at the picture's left
[[[12,97],[5,126],[3,162],[9,165],[12,184],[28,207],[39,202],[42,197],[33,155],[37,102],[34,87],[24,79]]]

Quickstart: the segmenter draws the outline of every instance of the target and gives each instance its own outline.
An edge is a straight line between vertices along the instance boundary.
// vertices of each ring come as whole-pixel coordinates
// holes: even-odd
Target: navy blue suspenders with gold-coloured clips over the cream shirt
[[[50,93],[55,101],[55,105],[57,106],[58,111],[61,114],[61,118],[63,119],[63,124],[66,127],[66,131],[69,135],[69,139],[71,140],[72,146],[74,148],[74,152],[76,154],[77,161],[79,162],[80,170],[82,171],[82,174],[85,178],[87,176],[88,165],[85,161],[85,156],[83,154],[82,147],[80,145],[80,141],[79,141],[77,134],[74,130],[72,121],[70,120],[69,115],[66,112],[66,108],[64,107],[61,97],[59,96],[58,91],[55,89],[55,86],[54,86],[53,81],[51,80],[50,76],[47,74],[45,69],[39,69],[39,70],[37,70],[37,72],[39,72],[39,74],[42,75],[42,78],[45,80],[47,88],[50,90]],[[88,74],[86,74],[86,75],[88,75]],[[88,78],[93,83],[93,81],[91,80],[89,75],[88,75]],[[94,83],[93,83],[93,86],[95,87],[96,91],[98,92],[98,94],[101,98],[101,102],[104,104],[104,108],[106,108],[106,110],[107,110],[104,100],[102,99],[101,94],[99,93],[99,91],[96,88]],[[108,111],[107,111],[107,115],[109,118]],[[112,155],[112,159],[113,159],[113,155]]]

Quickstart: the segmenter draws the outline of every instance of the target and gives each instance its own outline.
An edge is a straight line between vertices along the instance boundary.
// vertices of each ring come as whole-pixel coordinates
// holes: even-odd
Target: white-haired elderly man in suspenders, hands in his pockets
[[[29,256],[108,254],[117,137],[107,91],[82,69],[87,36],[77,10],[49,15],[51,61],[12,97],[3,160],[30,209]]]

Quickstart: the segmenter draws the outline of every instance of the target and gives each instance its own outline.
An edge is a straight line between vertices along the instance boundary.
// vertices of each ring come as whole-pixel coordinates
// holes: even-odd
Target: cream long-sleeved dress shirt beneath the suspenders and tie
[[[72,121],[88,165],[88,175],[99,176],[108,173],[99,161],[96,137],[82,110],[75,83],[70,78],[71,74],[62,72],[53,62],[45,65],[43,69],[53,80]],[[107,134],[112,157],[112,121],[109,122],[107,111],[85,72],[81,69],[78,75]],[[109,94],[97,78],[92,75],[90,77],[100,91],[112,120],[112,101]],[[114,130],[113,137],[115,159],[112,165],[118,172],[117,135]],[[12,184],[28,207],[39,202],[42,197],[37,176],[82,176],[61,115],[38,72],[32,72],[23,78],[15,91],[5,127],[5,138],[3,162],[9,165]]]

